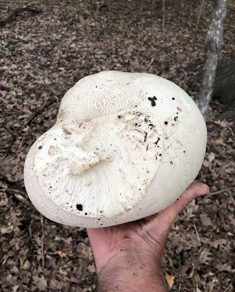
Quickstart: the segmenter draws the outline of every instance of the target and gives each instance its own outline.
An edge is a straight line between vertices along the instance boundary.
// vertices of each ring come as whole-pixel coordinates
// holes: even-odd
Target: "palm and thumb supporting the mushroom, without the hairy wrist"
[[[97,270],[127,250],[152,254],[160,261],[172,222],[190,201],[202,195],[196,193],[199,189],[204,193],[209,190],[205,184],[194,183],[178,201],[147,218],[111,227],[88,228]]]

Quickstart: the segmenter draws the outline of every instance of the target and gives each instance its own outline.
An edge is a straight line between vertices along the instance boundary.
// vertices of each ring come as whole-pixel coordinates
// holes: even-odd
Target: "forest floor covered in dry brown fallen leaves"
[[[0,1],[0,19],[23,5],[41,10],[0,27],[1,291],[95,288],[86,230],[41,217],[26,195],[24,160],[54,125],[63,94],[86,75],[158,74],[197,99],[212,0],[205,2],[198,29],[201,0],[165,2],[163,27],[160,0]],[[220,66],[235,55],[234,19],[230,2]],[[172,291],[235,291],[235,119],[216,119],[225,109],[211,103],[208,145],[197,177],[210,186],[210,194],[190,203],[167,240],[163,273]]]

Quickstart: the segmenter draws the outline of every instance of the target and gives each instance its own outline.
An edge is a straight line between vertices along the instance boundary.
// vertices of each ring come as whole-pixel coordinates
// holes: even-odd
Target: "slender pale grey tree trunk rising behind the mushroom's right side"
[[[198,107],[205,120],[212,97],[218,57],[223,45],[223,24],[227,3],[228,0],[214,0],[212,20],[205,39],[206,60],[198,99]]]

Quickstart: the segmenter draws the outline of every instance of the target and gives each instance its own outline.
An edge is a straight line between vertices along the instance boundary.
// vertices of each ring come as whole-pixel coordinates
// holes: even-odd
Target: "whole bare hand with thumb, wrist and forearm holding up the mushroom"
[[[87,228],[99,283],[103,283],[98,291],[124,292],[123,285],[126,291],[166,291],[160,267],[171,224],[189,202],[208,191],[206,184],[193,183],[179,200],[155,215],[111,227]]]

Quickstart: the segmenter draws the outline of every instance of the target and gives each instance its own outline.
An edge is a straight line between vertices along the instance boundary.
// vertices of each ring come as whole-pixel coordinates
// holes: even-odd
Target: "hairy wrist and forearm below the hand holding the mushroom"
[[[167,292],[160,268],[153,258],[125,256],[98,272],[97,292]]]

